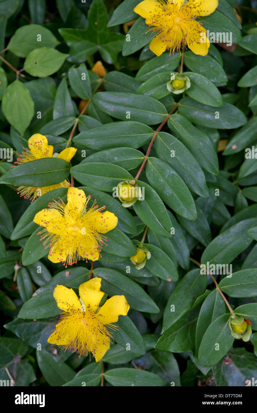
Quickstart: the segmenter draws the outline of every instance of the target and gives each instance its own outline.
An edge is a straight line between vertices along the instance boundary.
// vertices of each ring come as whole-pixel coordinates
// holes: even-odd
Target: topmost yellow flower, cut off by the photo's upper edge
[[[205,56],[210,47],[206,30],[196,21],[198,16],[209,16],[217,9],[218,0],[144,0],[134,12],[153,26],[155,37],[149,47],[160,56],[165,50],[174,53],[188,46],[196,55]]]

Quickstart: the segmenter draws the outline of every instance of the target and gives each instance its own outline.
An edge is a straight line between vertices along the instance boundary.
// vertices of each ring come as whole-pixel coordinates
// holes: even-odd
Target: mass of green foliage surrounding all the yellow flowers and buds
[[[182,56],[153,55],[152,33],[133,12],[138,3],[0,0],[0,147],[13,148],[16,158],[41,133],[60,152],[77,124],[71,170],[61,159],[12,169],[0,161],[0,379],[9,379],[8,370],[17,386],[99,386],[102,367],[104,385],[112,386],[244,386],[257,377],[257,161],[245,157],[257,145],[257,14],[248,9],[256,11],[257,2],[240,1],[240,8],[219,0],[198,19],[211,32],[233,33],[238,46],[211,44],[205,57],[187,50],[191,88],[183,95],[166,88]],[[92,71],[98,60],[104,78]],[[81,99],[89,102],[79,116]],[[162,123],[137,181],[145,200],[125,209],[113,187],[137,175]],[[119,318],[103,366],[47,343],[59,319],[54,287],[77,292],[90,273],[90,262],[69,267],[69,275],[51,263],[33,223],[52,198],[65,201],[67,190],[30,204],[15,188],[59,183],[70,173],[119,220],[94,276],[109,296],[124,294],[130,311]],[[151,259],[137,271],[129,257],[146,225]],[[232,264],[231,278],[216,278],[236,314],[251,320],[249,342],[233,339],[224,300],[190,257]]]

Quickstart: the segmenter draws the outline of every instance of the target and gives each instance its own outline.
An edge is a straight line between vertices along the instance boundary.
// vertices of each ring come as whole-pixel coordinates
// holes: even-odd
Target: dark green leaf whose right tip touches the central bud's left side
[[[114,191],[118,183],[133,178],[121,166],[102,162],[73,166],[71,175],[83,185],[90,184],[92,188],[104,191]]]

